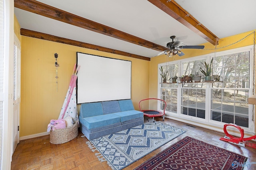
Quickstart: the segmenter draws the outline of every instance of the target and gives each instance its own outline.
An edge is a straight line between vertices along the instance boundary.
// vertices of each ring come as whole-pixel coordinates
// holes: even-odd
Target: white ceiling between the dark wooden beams
[[[256,29],[255,0],[175,1],[220,39]],[[199,45],[207,42],[147,0],[39,0],[39,2],[164,47],[171,41],[170,36],[172,35],[176,35],[176,39],[183,41],[186,45]],[[21,28],[24,29],[145,57],[154,57],[160,53],[154,49],[128,43],[18,8],[14,8],[14,13]]]

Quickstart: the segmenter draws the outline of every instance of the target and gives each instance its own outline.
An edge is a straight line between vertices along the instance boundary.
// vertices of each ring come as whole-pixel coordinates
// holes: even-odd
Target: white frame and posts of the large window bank
[[[252,61],[254,61],[253,59],[253,45],[249,45],[249,46],[246,46],[246,47],[239,47],[239,48],[236,48],[236,49],[229,49],[229,50],[225,50],[225,51],[220,51],[220,52],[216,52],[216,53],[210,53],[210,54],[206,54],[206,55],[200,55],[200,56],[196,56],[196,57],[190,57],[190,58],[187,58],[187,59],[180,59],[178,61],[168,61],[166,63],[160,63],[158,64],[158,98],[161,97],[161,76],[160,76],[160,71],[159,71],[159,68],[161,66],[166,66],[168,64],[176,64],[178,63],[178,66],[179,66],[179,69],[178,69],[178,77],[179,76],[182,76],[180,75],[182,73],[182,70],[183,68],[182,67],[182,63],[183,62],[188,62],[188,61],[194,61],[194,60],[200,60],[200,59],[206,59],[207,62],[210,61],[210,59],[212,59],[212,57],[218,57],[218,56],[222,56],[222,55],[228,55],[228,54],[233,54],[233,53],[241,53],[241,52],[245,52],[245,51],[249,51],[249,55],[250,55],[250,82],[249,82],[249,94],[248,96],[251,96],[252,95],[252,85],[253,85],[253,81],[255,80],[253,78],[253,69],[254,69],[254,63]],[[165,56],[164,56],[165,57]],[[199,83],[202,83],[202,82],[199,82]],[[218,121],[214,121],[214,120],[211,120],[211,99],[212,99],[212,96],[211,96],[211,92],[212,92],[212,85],[211,83],[207,82],[206,83],[206,115],[205,115],[205,121],[202,120],[202,118],[198,118],[198,117],[188,117],[188,116],[184,116],[181,114],[181,89],[182,89],[182,83],[179,83],[178,84],[178,87],[177,87],[177,113],[172,113],[170,111],[166,111],[166,117],[170,117],[172,119],[176,119],[178,121],[183,121],[183,122],[188,122],[188,123],[192,123],[192,124],[195,124],[195,125],[199,125],[201,127],[206,127],[208,128],[208,125],[211,125],[211,126],[214,126],[214,129],[217,130],[217,131],[220,131],[220,128],[223,128],[224,122],[218,122]],[[214,88],[215,89],[215,88]],[[246,90],[246,89],[241,89],[241,88],[238,88],[238,90]],[[160,104],[158,104],[157,106],[158,110],[161,110],[160,109]],[[255,119],[255,114],[252,114],[253,112],[253,107],[252,105],[248,105],[248,116],[249,116],[249,122],[248,122],[248,128],[247,127],[242,127],[244,129],[245,132],[253,132],[255,133],[255,127],[253,126],[254,123],[252,121],[252,115],[254,115],[253,119]]]

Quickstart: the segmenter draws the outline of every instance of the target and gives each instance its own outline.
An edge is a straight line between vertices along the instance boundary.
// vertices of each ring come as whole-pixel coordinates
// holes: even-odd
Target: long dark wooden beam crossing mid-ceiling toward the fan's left
[[[58,20],[58,21],[62,21],[62,22],[65,22],[65,23],[68,23],[71,25],[75,25],[75,26],[78,26],[78,27],[81,27],[84,29],[88,29],[90,31],[108,35],[110,37],[121,39],[121,40],[127,41],[129,43],[134,43],[136,45],[154,49],[156,51],[166,50],[166,47],[164,47],[162,45],[152,43],[145,39],[141,39],[139,37],[130,35],[128,33],[119,31],[117,29],[108,27],[106,25],[102,25],[100,23],[88,20],[86,18],[76,16],[69,12],[60,10],[58,8],[54,8],[52,6],[43,4],[43,3],[35,1],[35,0],[14,0],[14,7],[20,8],[22,10],[26,10],[28,12],[32,12],[35,14],[39,14],[41,16],[52,18],[54,20]]]

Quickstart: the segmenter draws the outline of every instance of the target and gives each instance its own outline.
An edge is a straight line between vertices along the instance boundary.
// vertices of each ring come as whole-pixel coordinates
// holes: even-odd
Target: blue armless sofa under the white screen
[[[88,140],[110,135],[144,123],[143,112],[132,100],[84,103],[79,113],[80,131]]]

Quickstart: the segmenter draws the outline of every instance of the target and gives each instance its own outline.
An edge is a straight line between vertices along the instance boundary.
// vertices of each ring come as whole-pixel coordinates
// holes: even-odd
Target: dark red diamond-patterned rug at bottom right
[[[240,154],[184,137],[134,170],[242,170],[246,160]]]

